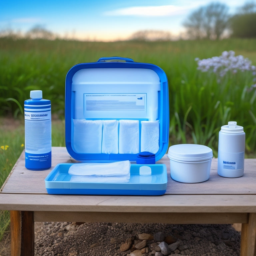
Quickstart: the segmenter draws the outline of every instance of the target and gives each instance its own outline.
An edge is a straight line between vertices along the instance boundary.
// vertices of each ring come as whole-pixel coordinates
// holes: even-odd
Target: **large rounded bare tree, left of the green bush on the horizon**
[[[228,6],[210,3],[193,11],[183,23],[191,39],[219,39],[228,27]]]

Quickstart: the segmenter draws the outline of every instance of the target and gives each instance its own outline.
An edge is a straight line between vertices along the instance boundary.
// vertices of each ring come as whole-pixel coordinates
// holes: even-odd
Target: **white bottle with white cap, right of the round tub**
[[[218,147],[218,174],[237,178],[244,175],[245,133],[236,122],[221,126]]]

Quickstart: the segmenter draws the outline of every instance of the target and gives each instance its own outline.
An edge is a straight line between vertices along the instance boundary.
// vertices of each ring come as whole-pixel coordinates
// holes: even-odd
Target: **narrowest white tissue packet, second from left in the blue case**
[[[104,154],[118,154],[118,120],[102,120],[102,150]]]

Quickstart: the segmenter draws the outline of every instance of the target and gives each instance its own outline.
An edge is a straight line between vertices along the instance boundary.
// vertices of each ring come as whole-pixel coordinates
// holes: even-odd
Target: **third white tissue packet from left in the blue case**
[[[139,120],[119,120],[119,154],[139,153]]]

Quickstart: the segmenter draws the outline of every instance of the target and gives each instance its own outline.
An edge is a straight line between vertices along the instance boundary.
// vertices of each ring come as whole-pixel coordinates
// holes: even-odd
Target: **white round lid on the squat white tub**
[[[167,156],[174,160],[197,162],[209,160],[213,154],[212,149],[204,145],[178,144],[169,147]]]

